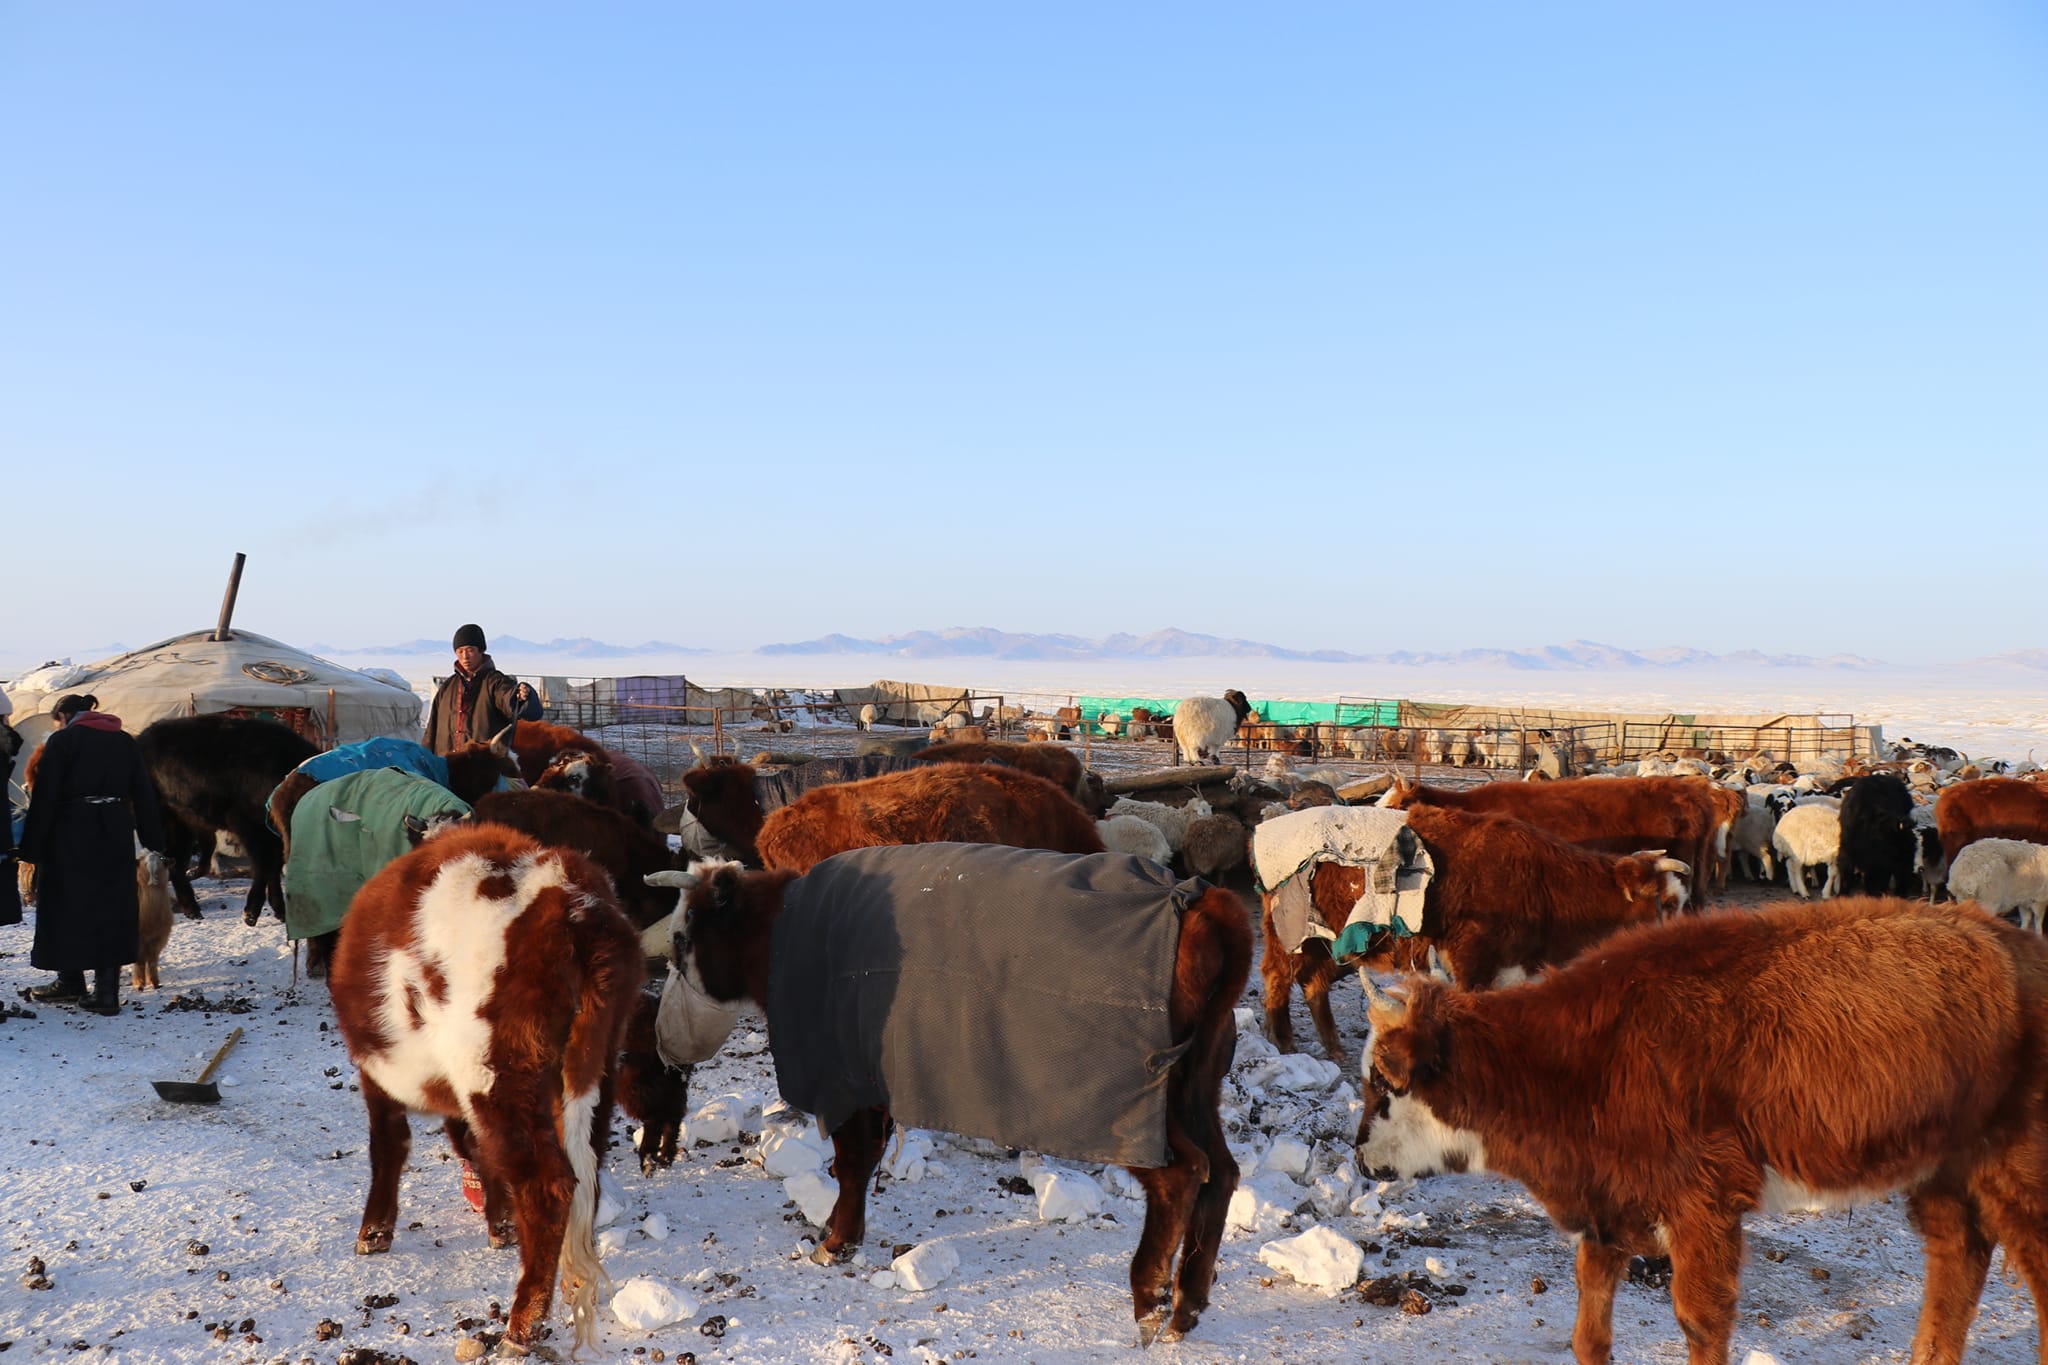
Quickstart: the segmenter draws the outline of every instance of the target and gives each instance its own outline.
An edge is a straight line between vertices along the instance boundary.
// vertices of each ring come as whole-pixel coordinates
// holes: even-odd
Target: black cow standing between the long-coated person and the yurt
[[[319,749],[274,720],[219,714],[158,720],[135,743],[164,808],[164,853],[178,907],[199,919],[186,866],[195,849],[207,849],[211,857],[213,837],[225,829],[250,855],[250,898],[242,921],[254,925],[264,898],[285,919],[285,845],[270,831],[264,810],[270,790]]]

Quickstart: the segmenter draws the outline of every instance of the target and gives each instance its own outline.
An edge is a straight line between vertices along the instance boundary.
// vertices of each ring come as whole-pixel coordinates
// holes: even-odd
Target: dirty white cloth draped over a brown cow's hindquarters
[[[1421,902],[1436,866],[1430,851],[1415,841],[1413,855],[1403,860],[1397,841],[1407,829],[1407,810],[1378,806],[1315,806],[1280,814],[1251,831],[1251,870],[1262,888],[1282,900],[1307,905],[1309,882],[1298,878],[1305,868],[1333,862],[1346,868],[1368,868],[1364,894],[1343,925],[1321,925],[1315,915],[1300,915],[1294,941],[1282,933],[1288,952],[1313,933],[1327,939],[1362,939],[1370,929],[1421,933]],[[1290,886],[1292,882],[1292,886]],[[1294,919],[1292,915],[1288,919]],[[1276,927],[1280,917],[1276,915]],[[1360,933],[1346,935],[1352,925]],[[1290,929],[1292,933],[1292,929]],[[1360,943],[1362,948],[1362,943]]]

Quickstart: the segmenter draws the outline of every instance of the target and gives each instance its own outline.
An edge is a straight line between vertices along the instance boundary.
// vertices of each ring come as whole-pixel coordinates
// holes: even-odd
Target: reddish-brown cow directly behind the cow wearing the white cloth
[[[1473,788],[1419,786],[1395,780],[1382,806],[1456,806],[1507,814],[1559,839],[1608,853],[1665,849],[1688,868],[1706,868],[1714,853],[1720,812],[1706,784],[1688,778],[1563,778],[1559,782],[1487,782]],[[1692,886],[1706,900],[1706,878]]]

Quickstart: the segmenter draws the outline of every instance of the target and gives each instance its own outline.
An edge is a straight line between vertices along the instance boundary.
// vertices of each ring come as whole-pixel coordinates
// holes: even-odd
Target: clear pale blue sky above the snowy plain
[[[0,4],[8,655],[2044,641],[2013,4]]]

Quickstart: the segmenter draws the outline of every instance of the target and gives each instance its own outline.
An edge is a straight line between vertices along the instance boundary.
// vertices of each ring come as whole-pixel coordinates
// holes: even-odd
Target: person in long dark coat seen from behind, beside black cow
[[[90,696],[57,702],[43,741],[20,853],[37,870],[35,945],[29,962],[57,978],[35,1001],[92,997],[98,1015],[121,1013],[121,968],[135,960],[135,839],[162,851],[164,823],[141,745]]]

